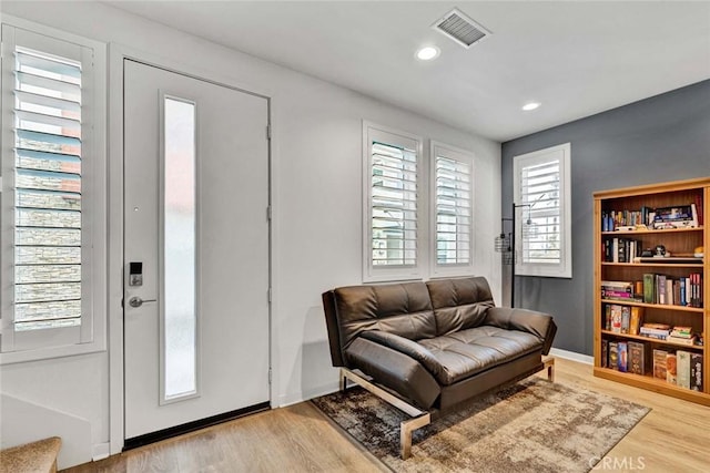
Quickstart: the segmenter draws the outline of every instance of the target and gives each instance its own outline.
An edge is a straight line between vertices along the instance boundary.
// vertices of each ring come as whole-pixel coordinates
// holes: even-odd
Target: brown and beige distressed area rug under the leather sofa
[[[406,414],[359,387],[312,402],[395,472],[588,472],[650,411],[531,377],[416,430],[403,461]]]

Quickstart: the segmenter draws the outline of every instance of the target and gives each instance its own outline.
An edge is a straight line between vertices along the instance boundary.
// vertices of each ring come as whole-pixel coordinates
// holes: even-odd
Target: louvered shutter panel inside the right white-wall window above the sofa
[[[471,165],[436,156],[436,263],[471,263]]]

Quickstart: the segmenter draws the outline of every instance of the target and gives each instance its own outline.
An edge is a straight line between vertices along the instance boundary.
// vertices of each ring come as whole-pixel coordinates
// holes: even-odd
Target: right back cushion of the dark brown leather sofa
[[[437,336],[483,325],[486,312],[494,307],[490,288],[483,277],[436,279],[426,282],[426,286],[432,298]]]

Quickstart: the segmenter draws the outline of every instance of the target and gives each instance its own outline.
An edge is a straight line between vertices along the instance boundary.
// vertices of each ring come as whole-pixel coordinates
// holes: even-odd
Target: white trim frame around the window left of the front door
[[[37,38],[37,42],[68,42],[81,47],[82,49],[89,49],[93,52],[92,68],[90,72],[83,78],[87,93],[90,94],[90,100],[85,105],[82,105],[82,121],[85,122],[91,133],[87,137],[82,137],[82,148],[90,160],[82,162],[82,176],[84,182],[82,183],[83,193],[87,198],[82,202],[82,219],[85,225],[82,225],[82,307],[90,307],[91,317],[82,318],[82,325],[80,327],[81,341],[72,343],[63,343],[59,341],[58,345],[51,345],[54,336],[62,329],[45,329],[38,331],[38,348],[17,349],[16,351],[0,352],[0,364],[17,363],[32,360],[51,359],[59,357],[67,357],[81,353],[90,353],[97,351],[104,351],[106,348],[106,45],[104,43],[89,40],[75,34],[67,33],[61,30],[57,30],[50,27],[40,25],[31,21],[18,19],[10,16],[4,16],[2,19],[2,56],[12,58],[16,45],[14,37],[16,32],[23,31],[32,37]],[[23,33],[23,34],[27,34]],[[11,38],[11,41],[9,41]],[[34,41],[34,39],[32,40]],[[24,45],[24,44],[23,44]],[[49,52],[49,51],[48,51]],[[82,62],[84,58],[82,54]],[[8,64],[8,65],[6,65]],[[14,69],[13,61],[3,61],[2,82],[7,80],[8,72],[11,74]],[[14,143],[14,135],[12,126],[8,124],[13,123],[12,109],[14,100],[8,101],[8,94],[12,95],[13,86],[6,86],[2,84],[3,103],[7,105],[2,109],[0,116],[1,133],[3,148],[1,150],[2,156],[2,185],[12,185],[14,153],[12,151],[12,143]],[[12,164],[12,165],[11,165]],[[6,194],[7,195],[7,194]],[[4,196],[3,196],[4,197]],[[7,198],[3,198],[1,212],[3,215],[8,214],[8,209],[11,208],[14,212],[14,204],[8,204]],[[6,217],[7,218],[7,217]],[[4,218],[3,218],[4,219]],[[2,259],[7,260],[7,257],[13,258],[12,245],[14,237],[12,232],[12,225],[3,225],[2,227]],[[90,251],[88,258],[84,256],[85,251]],[[87,260],[84,264],[83,260]],[[6,269],[8,273],[12,271],[12,267]],[[0,275],[3,281],[8,276]],[[12,277],[10,277],[12,279]],[[4,284],[4,282],[3,282]],[[12,289],[8,289],[12,291]],[[7,299],[8,291],[3,292],[3,300]],[[4,308],[6,302],[3,302]],[[3,310],[3,312],[8,313]],[[85,322],[84,322],[85,321]],[[9,322],[11,323],[11,321]],[[8,331],[12,330],[9,326],[8,319],[0,319],[0,327],[4,332],[3,339],[7,340]],[[12,333],[13,335],[13,333]]]

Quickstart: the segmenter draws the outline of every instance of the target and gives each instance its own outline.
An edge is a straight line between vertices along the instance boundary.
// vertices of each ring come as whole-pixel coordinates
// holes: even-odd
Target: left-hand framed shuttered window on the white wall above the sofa
[[[420,138],[367,126],[366,280],[419,275]]]

